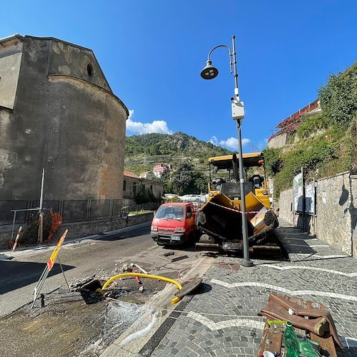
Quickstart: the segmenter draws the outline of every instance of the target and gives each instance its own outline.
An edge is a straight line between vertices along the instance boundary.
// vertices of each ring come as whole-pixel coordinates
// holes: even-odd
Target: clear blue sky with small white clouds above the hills
[[[48,36],[94,51],[131,116],[127,135],[177,131],[236,149],[228,50],[236,36],[243,151],[357,60],[356,0],[52,0],[0,3],[0,38]]]

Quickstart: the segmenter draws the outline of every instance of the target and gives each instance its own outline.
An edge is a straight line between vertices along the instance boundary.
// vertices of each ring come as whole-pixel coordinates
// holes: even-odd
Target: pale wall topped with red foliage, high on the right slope
[[[268,139],[268,148],[278,149],[286,146],[290,134],[293,134],[301,124],[303,114],[315,114],[321,111],[320,101],[316,99],[303,109],[296,111],[293,115],[281,121],[276,126],[276,133]]]

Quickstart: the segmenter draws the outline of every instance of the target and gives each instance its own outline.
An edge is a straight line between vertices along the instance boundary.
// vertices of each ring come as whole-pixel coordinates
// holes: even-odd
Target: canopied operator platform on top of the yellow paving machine
[[[208,192],[221,191],[232,201],[241,201],[238,156],[211,157],[208,163],[211,182],[208,184]],[[262,152],[243,154],[244,193],[253,193],[264,206],[270,208],[263,163]]]

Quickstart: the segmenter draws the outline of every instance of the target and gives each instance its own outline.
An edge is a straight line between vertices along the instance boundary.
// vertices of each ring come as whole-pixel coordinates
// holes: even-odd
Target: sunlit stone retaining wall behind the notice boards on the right
[[[357,258],[357,175],[350,171],[316,181],[316,216],[294,213],[292,188],[281,192],[279,216]]]

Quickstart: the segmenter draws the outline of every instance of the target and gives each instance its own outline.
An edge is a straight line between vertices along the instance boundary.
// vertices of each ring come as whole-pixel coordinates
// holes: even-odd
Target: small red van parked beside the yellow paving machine
[[[160,246],[174,246],[193,239],[196,233],[192,202],[162,204],[151,223],[151,238]]]

